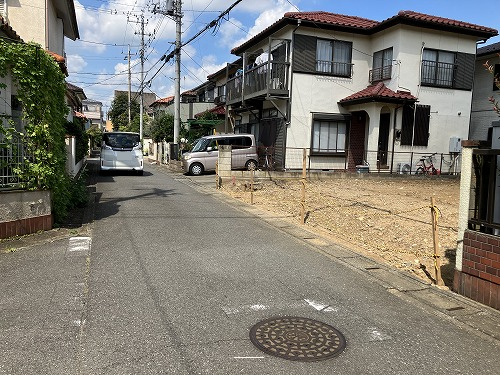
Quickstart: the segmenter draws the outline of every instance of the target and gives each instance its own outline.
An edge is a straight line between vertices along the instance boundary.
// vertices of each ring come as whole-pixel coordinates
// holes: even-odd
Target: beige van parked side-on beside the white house
[[[191,152],[183,156],[184,171],[200,175],[214,171],[219,159],[219,146],[231,145],[233,169],[257,169],[259,157],[253,134],[217,134],[200,138]]]

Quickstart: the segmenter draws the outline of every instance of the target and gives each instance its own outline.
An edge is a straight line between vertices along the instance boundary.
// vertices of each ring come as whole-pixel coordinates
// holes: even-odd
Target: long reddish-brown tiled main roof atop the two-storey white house
[[[354,32],[358,34],[372,35],[379,31],[398,24],[408,24],[417,27],[431,28],[436,30],[445,30],[458,32],[467,35],[474,35],[479,38],[490,38],[498,35],[498,31],[490,27],[475,25],[468,22],[452,20],[438,16],[413,12],[411,10],[400,11],[394,17],[388,18],[385,21],[378,22],[366,18],[356,16],[346,16],[329,12],[288,12],[284,16],[261,31],[252,39],[246,41],[242,45],[235,47],[231,53],[238,55],[245,51],[248,46],[251,46],[258,41],[261,41],[276,31],[287,25],[297,26],[298,22],[303,26],[317,27],[325,30],[333,29],[346,32]]]

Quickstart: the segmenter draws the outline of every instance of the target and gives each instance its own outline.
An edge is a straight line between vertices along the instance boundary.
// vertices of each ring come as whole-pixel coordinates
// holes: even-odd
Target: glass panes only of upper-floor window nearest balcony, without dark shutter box
[[[336,76],[351,76],[351,43],[318,39],[316,71]]]

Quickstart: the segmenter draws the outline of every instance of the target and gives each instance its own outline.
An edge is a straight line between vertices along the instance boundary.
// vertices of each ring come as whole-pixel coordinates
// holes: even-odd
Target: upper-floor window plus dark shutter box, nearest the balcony
[[[293,70],[351,77],[352,43],[295,34]]]

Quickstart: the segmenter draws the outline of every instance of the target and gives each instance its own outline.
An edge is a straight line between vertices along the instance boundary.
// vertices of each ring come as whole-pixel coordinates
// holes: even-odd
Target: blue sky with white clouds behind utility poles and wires
[[[182,42],[188,41],[236,0],[183,0]],[[128,90],[130,46],[131,87],[141,86],[141,18],[144,18],[144,92],[159,98],[174,94],[174,60],[160,60],[172,51],[175,21],[157,10],[167,0],[74,0],[80,39],[66,39],[67,81],[84,89],[88,99],[109,110],[115,90]],[[327,11],[383,21],[401,10],[451,18],[500,31],[500,11],[491,2],[470,0],[242,0],[215,28],[182,48],[181,92],[206,82],[237,56],[231,49],[257,35],[286,12]],[[487,44],[500,42],[491,38]]]

